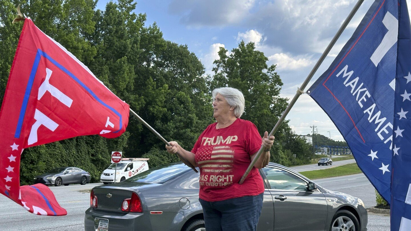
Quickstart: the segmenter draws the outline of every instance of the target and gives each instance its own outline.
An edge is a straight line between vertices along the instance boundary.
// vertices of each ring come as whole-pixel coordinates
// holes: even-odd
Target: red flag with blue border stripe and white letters
[[[20,187],[24,148],[74,136],[120,136],[129,105],[26,18],[0,111],[0,192],[39,215],[66,215],[42,184]]]

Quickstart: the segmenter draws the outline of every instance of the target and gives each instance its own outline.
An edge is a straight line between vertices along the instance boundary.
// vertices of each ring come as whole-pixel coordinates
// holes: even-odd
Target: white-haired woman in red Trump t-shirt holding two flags
[[[244,95],[235,88],[212,91],[214,118],[200,135],[191,152],[171,141],[169,153],[179,152],[192,165],[200,168],[199,201],[203,207],[205,229],[208,231],[249,231],[257,229],[263,206],[263,180],[258,169],[270,160],[274,136],[261,136],[256,126],[240,119],[244,111]],[[254,159],[256,152],[264,152],[254,164],[245,181],[241,176]]]

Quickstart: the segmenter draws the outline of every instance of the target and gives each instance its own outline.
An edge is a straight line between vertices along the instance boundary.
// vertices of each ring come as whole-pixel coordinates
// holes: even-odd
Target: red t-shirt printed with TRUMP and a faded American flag
[[[200,198],[222,201],[263,193],[263,179],[255,167],[238,184],[251,163],[251,155],[261,148],[257,127],[240,118],[228,127],[217,129],[216,125],[209,125],[191,150],[200,168]]]

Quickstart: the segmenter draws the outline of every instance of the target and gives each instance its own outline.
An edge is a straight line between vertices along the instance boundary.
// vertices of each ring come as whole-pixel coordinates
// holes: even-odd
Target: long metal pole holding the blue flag
[[[356,3],[356,5],[354,6],[354,8],[351,10],[350,14],[347,16],[347,18],[345,19],[344,23],[342,23],[341,27],[338,29],[337,33],[334,35],[334,37],[332,38],[330,44],[328,44],[326,50],[323,52],[323,54],[321,55],[321,57],[319,58],[319,60],[317,61],[317,63],[314,65],[314,67],[312,68],[311,72],[308,74],[307,78],[305,79],[305,81],[302,83],[301,87],[297,89],[297,93],[296,95],[293,97],[293,99],[291,99],[290,104],[287,106],[287,108],[284,110],[284,113],[281,115],[281,117],[279,118],[279,120],[277,121],[277,123],[275,124],[274,128],[271,130],[270,134],[268,135],[268,137],[272,136],[273,134],[275,134],[275,132],[277,132],[278,128],[280,127],[280,125],[282,124],[282,122],[284,121],[285,117],[287,116],[287,114],[289,113],[289,111],[291,110],[291,108],[294,106],[294,104],[296,103],[298,97],[300,97],[300,95],[304,92],[304,88],[307,86],[308,82],[311,80],[312,76],[314,76],[315,72],[317,71],[317,69],[320,67],[321,63],[324,61],[324,59],[326,58],[326,56],[328,55],[328,53],[330,52],[332,46],[334,46],[335,42],[337,42],[339,36],[342,34],[342,32],[344,31],[344,29],[346,28],[346,26],[348,25],[348,23],[351,21],[351,19],[353,18],[354,14],[356,14],[358,8],[360,8],[361,4],[364,2],[364,0],[358,0],[358,2]],[[244,175],[241,177],[240,181],[238,182],[240,185],[244,182],[245,178],[247,178],[248,173],[251,171],[251,169],[253,168],[254,164],[257,162],[257,159],[259,159],[259,157],[261,156],[261,153],[263,153],[263,150],[265,149],[264,146],[261,145],[260,150],[257,152],[256,156],[254,157],[254,159],[252,160],[252,162],[250,163],[250,165],[248,166],[247,170],[245,170]]]

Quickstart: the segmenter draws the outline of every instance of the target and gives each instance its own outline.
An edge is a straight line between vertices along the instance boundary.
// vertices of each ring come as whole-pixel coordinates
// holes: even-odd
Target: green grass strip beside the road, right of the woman
[[[342,166],[329,168],[329,169],[300,172],[300,174],[302,174],[303,176],[311,180],[336,177],[336,176],[348,176],[348,175],[353,175],[353,174],[358,174],[358,173],[361,173],[361,170],[358,168],[358,165],[356,163],[345,164]]]

